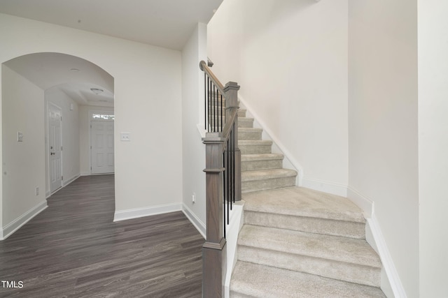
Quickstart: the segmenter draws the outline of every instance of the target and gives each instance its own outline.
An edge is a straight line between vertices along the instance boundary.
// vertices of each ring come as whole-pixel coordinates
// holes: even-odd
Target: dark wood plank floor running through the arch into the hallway
[[[0,297],[201,297],[204,239],[182,212],[113,223],[113,175],[80,177],[0,241]]]

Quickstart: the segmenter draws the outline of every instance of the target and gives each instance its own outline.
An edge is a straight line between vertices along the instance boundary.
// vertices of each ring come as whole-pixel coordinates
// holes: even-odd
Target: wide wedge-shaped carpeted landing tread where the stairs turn
[[[242,199],[244,210],[248,211],[365,223],[363,211],[350,200],[310,188],[292,186],[255,191],[244,193]]]

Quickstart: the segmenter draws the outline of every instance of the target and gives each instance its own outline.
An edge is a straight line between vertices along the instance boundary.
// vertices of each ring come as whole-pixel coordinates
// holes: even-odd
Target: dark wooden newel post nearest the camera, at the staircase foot
[[[202,246],[202,297],[224,297],[227,253],[223,235],[222,156],[225,139],[219,133],[207,133],[203,142],[206,145],[207,239]]]

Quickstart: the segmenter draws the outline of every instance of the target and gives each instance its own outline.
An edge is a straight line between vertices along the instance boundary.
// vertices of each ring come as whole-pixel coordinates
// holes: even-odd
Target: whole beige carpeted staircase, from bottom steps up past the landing
[[[239,110],[244,226],[230,297],[386,297],[363,212],[346,198],[295,186],[246,110]]]

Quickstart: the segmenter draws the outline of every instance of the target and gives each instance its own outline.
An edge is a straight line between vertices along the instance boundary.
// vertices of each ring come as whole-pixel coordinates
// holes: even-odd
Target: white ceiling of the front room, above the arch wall
[[[0,13],[182,50],[223,0],[0,0]]]

